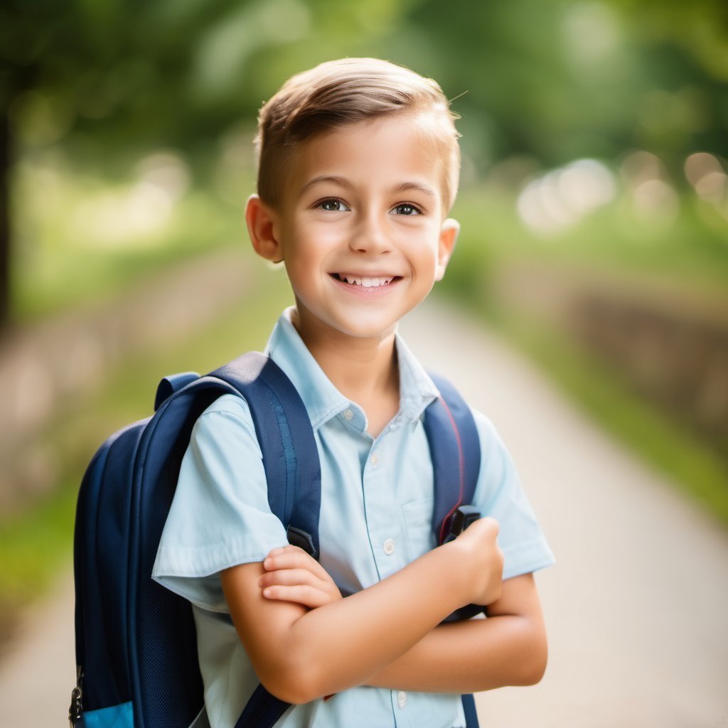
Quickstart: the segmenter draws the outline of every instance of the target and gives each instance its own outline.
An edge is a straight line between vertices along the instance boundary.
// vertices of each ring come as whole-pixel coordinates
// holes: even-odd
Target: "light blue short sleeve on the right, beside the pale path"
[[[475,505],[498,521],[498,543],[505,557],[503,578],[510,579],[550,566],[553,554],[523,492],[513,460],[493,424],[473,412],[480,435],[480,477]]]

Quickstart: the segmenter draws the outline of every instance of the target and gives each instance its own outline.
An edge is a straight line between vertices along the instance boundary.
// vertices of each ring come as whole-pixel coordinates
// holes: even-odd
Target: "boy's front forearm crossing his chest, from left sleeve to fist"
[[[391,577],[312,611],[264,598],[262,563],[223,571],[223,591],[261,683],[288,703],[307,703],[370,681],[459,606],[498,598],[497,532],[483,518]]]

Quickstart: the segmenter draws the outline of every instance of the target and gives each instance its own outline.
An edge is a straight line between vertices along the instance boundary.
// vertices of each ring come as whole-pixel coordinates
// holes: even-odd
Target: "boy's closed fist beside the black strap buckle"
[[[479,518],[447,546],[461,550],[460,568],[467,578],[471,596],[465,604],[491,604],[501,596],[503,552],[497,542],[498,522]]]

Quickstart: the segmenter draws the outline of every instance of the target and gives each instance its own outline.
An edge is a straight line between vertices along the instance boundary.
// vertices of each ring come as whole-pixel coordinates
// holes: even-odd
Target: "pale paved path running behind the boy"
[[[494,420],[558,559],[538,577],[550,634],[546,677],[537,687],[479,695],[483,728],[727,724],[728,533],[462,314],[428,305],[403,332]],[[61,579],[28,615],[0,665],[3,726],[66,725],[69,587],[70,577]]]

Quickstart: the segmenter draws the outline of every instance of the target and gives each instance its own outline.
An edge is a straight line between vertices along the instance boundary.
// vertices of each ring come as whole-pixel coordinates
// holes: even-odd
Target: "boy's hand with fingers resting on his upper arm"
[[[274,548],[263,568],[266,573],[258,584],[266,599],[293,601],[309,609],[341,599],[339,587],[328,571],[298,546]]]

